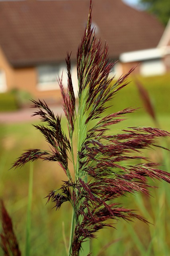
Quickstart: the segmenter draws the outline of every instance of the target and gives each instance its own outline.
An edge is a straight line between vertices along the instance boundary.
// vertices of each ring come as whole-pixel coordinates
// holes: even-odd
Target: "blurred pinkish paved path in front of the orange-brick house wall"
[[[62,106],[53,106],[51,109],[53,110],[54,114],[63,114]],[[33,120],[38,120],[38,116],[31,117],[35,110],[35,108],[24,108],[14,112],[0,112],[0,123],[10,124],[18,122],[32,122]]]

